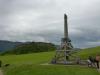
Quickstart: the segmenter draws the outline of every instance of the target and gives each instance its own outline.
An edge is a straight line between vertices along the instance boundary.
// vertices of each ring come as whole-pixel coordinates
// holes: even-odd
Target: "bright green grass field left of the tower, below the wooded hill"
[[[42,52],[22,55],[5,55],[0,56],[0,60],[2,60],[3,64],[40,64],[49,62],[53,56],[54,52]]]

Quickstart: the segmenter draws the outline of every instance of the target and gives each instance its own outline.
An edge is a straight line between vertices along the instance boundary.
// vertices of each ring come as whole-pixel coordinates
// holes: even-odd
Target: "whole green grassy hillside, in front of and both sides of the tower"
[[[74,55],[86,59],[88,55],[100,53],[100,47],[88,48]],[[3,67],[5,75],[100,75],[95,68],[86,66],[65,66],[65,65],[41,65],[50,62],[54,52],[42,52],[22,55],[0,56],[3,64],[10,66]]]

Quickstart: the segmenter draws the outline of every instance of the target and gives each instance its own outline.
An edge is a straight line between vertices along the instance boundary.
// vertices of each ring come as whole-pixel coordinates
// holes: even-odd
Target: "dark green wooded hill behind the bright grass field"
[[[3,52],[2,54],[27,54],[37,52],[48,52],[55,50],[56,47],[52,43],[30,42],[16,46],[13,49]]]

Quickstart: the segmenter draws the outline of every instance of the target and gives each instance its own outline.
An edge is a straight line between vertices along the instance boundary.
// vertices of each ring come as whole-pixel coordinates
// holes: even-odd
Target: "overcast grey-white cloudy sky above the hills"
[[[64,13],[74,47],[100,46],[100,0],[0,0],[0,40],[58,45]]]

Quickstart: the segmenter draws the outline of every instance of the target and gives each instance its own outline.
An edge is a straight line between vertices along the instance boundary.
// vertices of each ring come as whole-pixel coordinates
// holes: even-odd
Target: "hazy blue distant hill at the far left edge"
[[[8,49],[12,49],[18,45],[23,44],[22,42],[11,42],[11,41],[5,41],[0,40],[0,52],[6,51]]]

